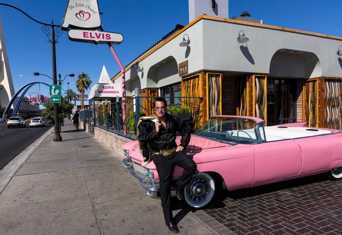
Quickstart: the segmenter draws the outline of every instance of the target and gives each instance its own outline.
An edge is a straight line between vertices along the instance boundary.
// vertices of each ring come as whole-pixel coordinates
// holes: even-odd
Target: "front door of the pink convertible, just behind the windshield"
[[[292,139],[255,144],[253,148],[254,183],[300,173],[301,149]]]

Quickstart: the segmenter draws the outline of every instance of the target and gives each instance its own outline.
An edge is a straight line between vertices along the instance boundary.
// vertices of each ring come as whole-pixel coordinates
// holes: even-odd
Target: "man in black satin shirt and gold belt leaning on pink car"
[[[156,116],[160,120],[154,123],[145,120],[139,125],[139,142],[143,146],[143,156],[148,154],[147,144],[150,144],[153,153],[153,162],[159,175],[161,206],[163,208],[165,224],[173,233],[178,233],[178,227],[173,221],[171,210],[171,179],[174,166],[184,169],[183,174],[176,182],[176,195],[183,200],[184,187],[197,170],[196,163],[183,150],[190,141],[190,128],[179,118],[166,113],[167,103],[162,97],[154,101]],[[182,135],[181,144],[177,146],[176,132]]]

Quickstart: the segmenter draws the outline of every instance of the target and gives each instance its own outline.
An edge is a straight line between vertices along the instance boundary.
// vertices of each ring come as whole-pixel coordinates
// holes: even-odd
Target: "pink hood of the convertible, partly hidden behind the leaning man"
[[[177,136],[176,138],[176,144],[180,144],[181,136]],[[211,151],[213,148],[220,148],[220,147],[227,147],[229,144],[221,143],[218,141],[201,138],[195,135],[192,135],[190,138],[190,142],[188,146],[186,147],[186,150],[184,152],[194,155],[196,153],[203,153],[207,151]],[[131,141],[122,146],[122,149],[128,150],[130,152],[130,157],[132,160],[138,163],[142,163],[143,156],[140,154],[138,141]],[[147,168],[155,168],[153,162],[150,162],[146,166]]]

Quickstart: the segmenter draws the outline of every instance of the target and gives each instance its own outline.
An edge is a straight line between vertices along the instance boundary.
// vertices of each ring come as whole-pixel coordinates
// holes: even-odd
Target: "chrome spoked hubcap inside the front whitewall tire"
[[[200,203],[208,197],[210,190],[211,187],[206,178],[196,177],[188,184],[187,196],[190,201]]]

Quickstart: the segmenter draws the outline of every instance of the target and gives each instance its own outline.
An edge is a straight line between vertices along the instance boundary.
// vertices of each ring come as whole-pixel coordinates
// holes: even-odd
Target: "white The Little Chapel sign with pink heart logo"
[[[68,0],[61,28],[99,29],[100,12],[97,0]]]

